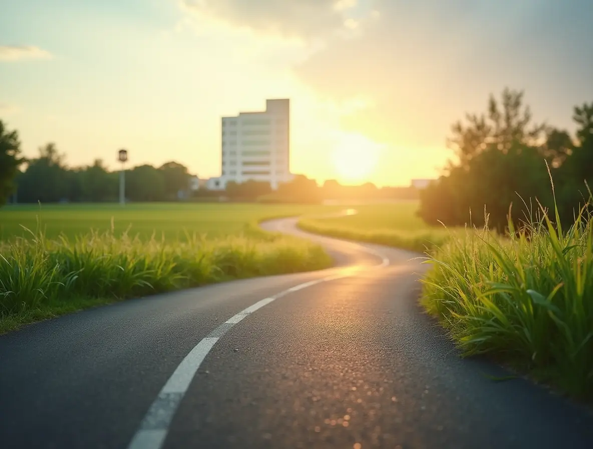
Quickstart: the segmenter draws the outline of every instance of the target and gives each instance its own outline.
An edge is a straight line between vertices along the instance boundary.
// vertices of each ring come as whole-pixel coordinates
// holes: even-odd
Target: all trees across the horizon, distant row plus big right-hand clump
[[[538,214],[538,202],[557,207],[570,221],[591,198],[593,187],[593,102],[575,106],[576,132],[534,123],[524,92],[505,88],[500,100],[490,95],[487,110],[466,114],[451,126],[447,144],[454,151],[442,176],[428,188],[382,187],[372,183],[343,186],[336,180],[318,186],[298,175],[273,191],[269,183],[228,183],[224,192],[200,187],[196,200],[321,202],[325,199],[420,199],[418,214],[432,225],[484,225],[504,231],[509,211],[515,225]],[[23,168],[21,168],[23,167]],[[68,167],[54,144],[36,158],[20,154],[15,130],[0,121],[0,205],[17,192],[18,202],[114,201],[119,173],[101,160],[86,167]],[[189,190],[191,175],[171,161],[161,167],[139,165],[126,171],[126,198],[132,201],[178,199]],[[554,190],[551,179],[553,179]],[[553,196],[555,194],[555,197]],[[14,198],[14,196],[12,196]],[[554,201],[555,200],[555,201]]]

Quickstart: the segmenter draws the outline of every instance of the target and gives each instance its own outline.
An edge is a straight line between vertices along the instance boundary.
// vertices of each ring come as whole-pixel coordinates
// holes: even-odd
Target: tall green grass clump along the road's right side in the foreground
[[[426,262],[423,305],[465,355],[489,353],[535,380],[593,399],[593,221],[568,230],[541,208],[508,238],[467,230]],[[554,221],[555,224],[552,223]]]

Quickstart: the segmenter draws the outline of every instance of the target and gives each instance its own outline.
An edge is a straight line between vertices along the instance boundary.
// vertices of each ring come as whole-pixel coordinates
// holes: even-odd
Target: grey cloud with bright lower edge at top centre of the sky
[[[352,28],[356,0],[181,0],[181,8],[235,27],[298,37],[330,36]],[[349,20],[351,19],[351,20]]]

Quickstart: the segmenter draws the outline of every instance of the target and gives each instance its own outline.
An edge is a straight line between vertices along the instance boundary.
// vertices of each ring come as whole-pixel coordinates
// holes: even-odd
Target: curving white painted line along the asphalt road
[[[375,254],[375,256],[381,257],[382,262],[380,265],[371,266],[369,268],[381,268],[389,264],[389,259],[383,257],[381,254],[374,250],[370,250],[365,247],[361,247],[366,252]],[[352,269],[353,268],[353,269]],[[250,305],[246,309],[240,311],[236,315],[229,318],[220,326],[216,327],[208,336],[204,337],[197,343],[192,351],[187,354],[181,363],[177,366],[176,370],[171,374],[171,377],[162,387],[157,399],[154,400],[151,407],[146,412],[142,423],[140,424],[136,434],[127,446],[127,449],[161,449],[162,445],[167,438],[167,432],[169,425],[173,420],[175,412],[183,399],[184,394],[192,383],[193,378],[206,355],[211,351],[213,346],[221,339],[233,327],[239,323],[245,317],[249,316],[254,311],[262,308],[264,305],[269,304],[272,301],[277,300],[291,292],[301,290],[303,288],[310,287],[312,285],[321,284],[321,282],[333,281],[334,279],[347,278],[355,274],[361,267],[352,267],[347,270],[346,273],[342,272],[337,275],[326,276],[325,278],[315,279],[314,281],[304,282],[302,284],[295,285],[284,291],[279,292],[273,297],[264,298],[263,300],[257,301],[255,304]],[[342,269],[344,270],[344,269]]]

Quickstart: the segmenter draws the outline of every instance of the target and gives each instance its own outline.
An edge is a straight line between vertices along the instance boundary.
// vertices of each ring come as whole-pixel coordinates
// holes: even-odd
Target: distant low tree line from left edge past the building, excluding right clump
[[[197,201],[227,199],[241,202],[319,203],[326,199],[417,199],[413,187],[377,187],[372,183],[344,186],[328,180],[317,181],[297,175],[277,190],[267,182],[250,180],[227,183],[224,190],[190,186],[192,174],[184,165],[170,161],[154,167],[138,165],[126,170],[126,200],[133,202]],[[110,202],[119,198],[119,171],[110,171],[102,160],[92,165],[69,167],[66,155],[55,144],[39,148],[34,158],[21,157],[15,130],[0,121],[0,206],[7,200],[18,203]]]

